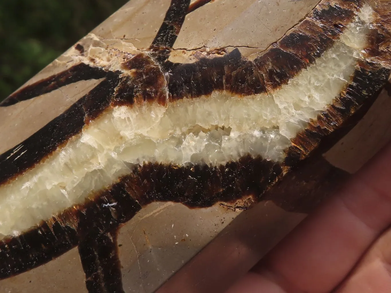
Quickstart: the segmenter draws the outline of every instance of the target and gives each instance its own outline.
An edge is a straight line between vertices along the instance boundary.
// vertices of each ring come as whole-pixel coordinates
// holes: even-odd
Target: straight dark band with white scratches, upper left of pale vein
[[[20,143],[21,147],[17,152],[11,149],[0,155],[0,184],[33,167],[72,136],[80,133],[86,124],[110,105],[118,80],[117,73],[108,73],[108,78],[68,110]],[[13,155],[10,156],[11,154]]]

